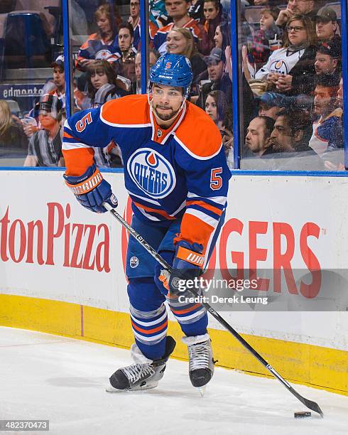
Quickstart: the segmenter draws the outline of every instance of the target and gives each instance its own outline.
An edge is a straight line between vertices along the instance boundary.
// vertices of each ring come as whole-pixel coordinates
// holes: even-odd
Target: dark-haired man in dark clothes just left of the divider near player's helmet
[[[133,46],[133,28],[129,23],[123,23],[119,26],[119,50],[121,57],[114,63],[114,70],[117,75],[126,77],[134,82],[136,80],[135,58],[136,49]]]

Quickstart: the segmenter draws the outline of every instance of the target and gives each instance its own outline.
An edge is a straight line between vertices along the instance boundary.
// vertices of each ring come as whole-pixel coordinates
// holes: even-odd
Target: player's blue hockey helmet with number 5
[[[150,83],[183,87],[185,98],[190,93],[192,82],[190,60],[183,55],[165,53],[150,70]]]

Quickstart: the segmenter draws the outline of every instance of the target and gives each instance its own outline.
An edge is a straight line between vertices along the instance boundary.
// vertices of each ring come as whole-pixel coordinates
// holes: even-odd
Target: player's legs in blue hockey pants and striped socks
[[[219,235],[224,221],[224,214],[215,230],[208,259]],[[172,257],[175,252],[173,238],[180,232],[181,220],[143,222],[136,215],[133,216],[131,226],[144,239],[162,254],[165,259]],[[170,263],[171,264],[171,263]],[[170,298],[163,286],[156,285],[154,269],[156,260],[132,236],[126,257],[126,276],[129,279],[127,288],[130,302],[131,326],[138,348],[143,355],[151,360],[162,358],[165,353],[165,337],[167,335],[168,315],[165,300],[187,336],[203,335],[207,333],[207,312],[201,304],[185,304],[176,298]]]

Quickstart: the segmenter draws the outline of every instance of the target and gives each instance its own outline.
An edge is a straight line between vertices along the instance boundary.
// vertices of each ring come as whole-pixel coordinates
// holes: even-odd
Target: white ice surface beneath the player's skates
[[[305,407],[276,380],[217,368],[201,398],[173,359],[155,390],[105,392],[129,363],[128,350],[0,327],[0,419],[49,419],[39,435],[348,433],[348,397],[294,385],[325,413],[294,419]]]

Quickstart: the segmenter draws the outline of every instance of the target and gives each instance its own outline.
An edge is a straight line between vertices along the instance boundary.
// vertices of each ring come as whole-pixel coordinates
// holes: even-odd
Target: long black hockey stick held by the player
[[[161,264],[161,266],[163,266],[168,271],[169,274],[173,272],[172,267],[167,262],[165,262],[165,260],[161,257],[161,255],[158,254],[156,250],[153,249],[153,247],[149,245],[148,242],[146,242],[146,240],[141,235],[139,235],[136,232],[136,230],[134,230],[134,228],[131,227],[131,225],[129,225],[129,223],[126,222],[126,220],[124,220],[124,218],[122,218],[121,215],[119,215],[119,213],[116,212],[114,208],[111,207],[111,205],[109,205],[108,203],[103,203],[103,205],[104,208],[106,208],[110,213],[112,213],[114,218],[116,218],[116,220],[118,220],[121,223],[121,225],[123,225],[126,228],[126,230],[129,231],[129,234],[131,234],[143,246],[143,248],[145,248],[146,251],[149,254],[151,254],[152,257],[156,259],[158,263]],[[188,290],[194,296],[198,296],[198,297],[200,296],[195,291],[195,289],[188,289]],[[241,343],[241,345],[243,345],[244,348],[246,348],[246,350],[249,350],[251,355],[254,355],[256,360],[259,360],[259,362],[263,365],[263,367],[265,367],[268,370],[268,372],[271,372],[271,374],[274,377],[276,377],[276,379],[278,379],[278,381],[281,382],[281,384],[283,384],[284,387],[286,387],[295,397],[297,397],[297,399],[300,400],[300,402],[302,402],[309,409],[312,409],[312,411],[320,414],[321,417],[324,417],[322,410],[320,409],[319,405],[316,402],[312,402],[312,400],[306,399],[305,397],[301,396],[301,394],[299,394],[281,375],[279,375],[279,373],[276,372],[276,370],[274,370],[273,367],[270,364],[268,364],[267,361],[264,360],[261,357],[261,355],[258,352],[256,352],[256,350],[253,347],[251,347],[251,345],[249,345],[249,343],[247,343],[246,340],[244,340],[244,338],[241,337],[241,335],[239,335],[239,333],[237,333],[234,330],[234,328],[232,328],[232,326],[230,326],[229,323],[227,323],[227,321],[225,321],[224,318],[222,318],[222,316],[219,315],[219,313],[217,313],[217,311],[214,310],[214,308],[210,306],[210,304],[207,304],[206,302],[202,302],[201,304],[207,309],[207,311],[210,312],[210,314],[214,318],[217,319],[219,323],[222,324],[222,326],[224,326],[224,328],[227,329],[227,331],[229,331],[229,333],[232,333],[234,338],[236,338],[236,340],[238,340],[239,343]]]

